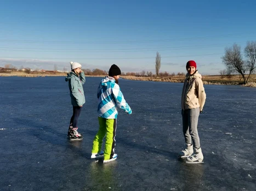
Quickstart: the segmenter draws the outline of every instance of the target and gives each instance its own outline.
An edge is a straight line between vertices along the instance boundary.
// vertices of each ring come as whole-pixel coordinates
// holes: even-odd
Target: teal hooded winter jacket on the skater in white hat
[[[86,82],[86,77],[83,71],[80,73],[80,76],[71,71],[71,73],[67,74],[65,80],[69,82],[71,104],[73,106],[82,106],[86,103],[83,92],[83,84]]]

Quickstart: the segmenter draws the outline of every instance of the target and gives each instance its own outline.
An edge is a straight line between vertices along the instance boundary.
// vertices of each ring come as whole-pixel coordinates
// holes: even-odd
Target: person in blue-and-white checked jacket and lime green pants
[[[132,109],[126,102],[118,85],[118,79],[121,75],[120,68],[113,64],[109,69],[109,76],[105,76],[101,80],[97,97],[99,130],[93,140],[92,159],[104,157],[103,163],[109,163],[117,159],[115,153],[116,146],[116,124],[117,124],[117,108],[121,108],[127,114],[132,114]],[[106,136],[105,150],[101,151],[103,139]]]

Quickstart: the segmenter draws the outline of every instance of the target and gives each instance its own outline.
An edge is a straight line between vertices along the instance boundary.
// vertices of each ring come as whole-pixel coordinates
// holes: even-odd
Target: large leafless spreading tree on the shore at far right
[[[244,49],[244,56],[245,59],[242,57],[241,47],[234,44],[232,47],[225,49],[222,61],[226,65],[228,74],[241,74],[243,83],[246,84],[256,68],[256,41],[247,43]]]

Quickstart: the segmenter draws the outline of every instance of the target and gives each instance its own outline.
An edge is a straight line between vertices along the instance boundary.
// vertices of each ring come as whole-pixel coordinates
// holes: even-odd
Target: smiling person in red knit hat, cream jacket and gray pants
[[[186,70],[187,74],[181,95],[181,115],[186,148],[179,153],[179,156],[181,158],[186,157],[187,163],[201,163],[203,154],[197,123],[206,102],[206,92],[204,91],[202,76],[196,70],[196,62],[188,61]]]

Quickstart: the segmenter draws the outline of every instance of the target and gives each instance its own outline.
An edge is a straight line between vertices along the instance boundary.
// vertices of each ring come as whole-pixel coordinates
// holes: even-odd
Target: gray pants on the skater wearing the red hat
[[[182,110],[183,134],[186,144],[200,148],[200,139],[197,132],[198,117],[200,108]]]

